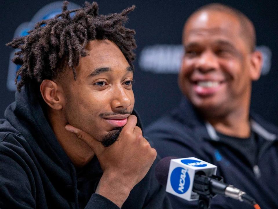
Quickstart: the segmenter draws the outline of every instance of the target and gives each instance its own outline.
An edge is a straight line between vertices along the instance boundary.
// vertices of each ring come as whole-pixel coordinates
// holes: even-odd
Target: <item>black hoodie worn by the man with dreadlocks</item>
[[[0,208],[118,208],[94,194],[103,174],[97,158],[76,170],[36,95],[31,85],[23,87],[0,122]],[[122,208],[170,208],[154,165]]]

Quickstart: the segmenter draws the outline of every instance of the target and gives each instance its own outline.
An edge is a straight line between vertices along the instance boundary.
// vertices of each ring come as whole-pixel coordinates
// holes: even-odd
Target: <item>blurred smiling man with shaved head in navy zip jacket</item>
[[[278,128],[250,112],[251,83],[260,76],[252,22],[241,12],[209,4],[186,21],[178,78],[180,107],[147,128],[161,157],[197,157],[217,165],[217,175],[278,208]],[[173,208],[196,208],[171,195]],[[217,196],[212,208],[253,208]]]

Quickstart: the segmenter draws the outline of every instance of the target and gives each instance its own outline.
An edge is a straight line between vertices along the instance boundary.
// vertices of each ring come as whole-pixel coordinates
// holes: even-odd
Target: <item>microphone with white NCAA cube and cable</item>
[[[164,157],[155,168],[156,179],[166,187],[166,192],[187,201],[203,201],[209,208],[209,200],[217,194],[249,203],[260,209],[255,199],[246,192],[223,182],[216,176],[217,166],[195,157]],[[201,204],[201,203],[200,203]]]

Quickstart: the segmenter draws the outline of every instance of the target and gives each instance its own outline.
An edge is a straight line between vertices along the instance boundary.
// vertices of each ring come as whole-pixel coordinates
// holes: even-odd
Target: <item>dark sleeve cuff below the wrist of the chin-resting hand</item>
[[[92,194],[85,209],[120,209],[112,201],[99,194]]]

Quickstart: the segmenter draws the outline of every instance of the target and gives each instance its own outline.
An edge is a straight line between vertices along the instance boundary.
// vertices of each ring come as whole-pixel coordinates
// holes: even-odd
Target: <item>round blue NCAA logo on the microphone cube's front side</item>
[[[190,178],[187,170],[182,167],[175,168],[171,173],[171,186],[178,194],[184,194],[190,185]]]

